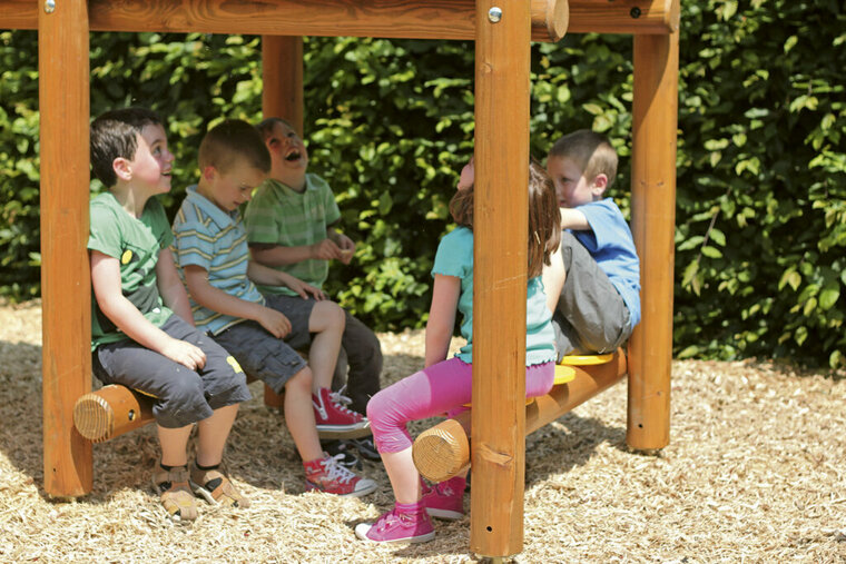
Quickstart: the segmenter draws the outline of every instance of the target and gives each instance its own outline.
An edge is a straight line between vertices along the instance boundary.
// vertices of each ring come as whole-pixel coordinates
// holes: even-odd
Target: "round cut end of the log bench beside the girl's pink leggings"
[[[458,475],[470,459],[470,442],[455,419],[446,419],[420,434],[412,448],[417,472],[430,482]]]

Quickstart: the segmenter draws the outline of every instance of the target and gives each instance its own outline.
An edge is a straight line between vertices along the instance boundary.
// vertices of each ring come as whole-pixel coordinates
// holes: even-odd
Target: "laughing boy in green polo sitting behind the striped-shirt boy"
[[[258,126],[270,152],[269,178],[256,190],[244,221],[254,260],[285,271],[323,288],[329,260],[348,265],[355,243],[336,230],[341,211],[328,184],[307,172],[308,151],[294,128],[279,118],[267,118]],[[265,294],[279,299],[296,299],[283,286],[262,286]],[[364,414],[367,400],[380,390],[382,349],[376,335],[346,311],[341,342],[341,358],[333,378],[338,389],[346,380],[350,407]],[[346,369],[348,366],[348,374]],[[372,438],[354,442],[358,452],[378,458]]]

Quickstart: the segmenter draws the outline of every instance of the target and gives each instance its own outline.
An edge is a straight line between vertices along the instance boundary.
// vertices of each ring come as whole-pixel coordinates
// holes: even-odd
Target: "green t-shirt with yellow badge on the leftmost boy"
[[[153,325],[160,327],[173,311],[165,307],[156,280],[161,249],[174,240],[165,208],[156,198],[147,200],[140,219],[129,215],[110,192],[91,200],[88,249],[115,257],[120,264],[120,288]],[[100,310],[91,295],[91,350],[106,343],[127,339]]]

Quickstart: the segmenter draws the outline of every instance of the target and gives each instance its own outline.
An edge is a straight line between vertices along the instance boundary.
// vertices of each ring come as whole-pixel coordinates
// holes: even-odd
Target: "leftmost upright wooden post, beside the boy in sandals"
[[[38,6],[45,489],[72,497],[92,485],[91,444],[72,418],[91,390],[88,3]]]

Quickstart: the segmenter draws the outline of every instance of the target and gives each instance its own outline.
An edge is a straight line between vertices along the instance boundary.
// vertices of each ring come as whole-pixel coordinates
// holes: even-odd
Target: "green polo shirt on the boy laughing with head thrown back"
[[[322,241],[326,238],[326,229],[338,219],[341,211],[332,188],[326,180],[312,174],[305,176],[305,190],[302,194],[278,180],[265,180],[244,215],[248,243],[283,247]],[[329,274],[329,261],[309,259],[274,268],[321,288]],[[259,286],[258,289],[266,294],[297,295],[285,286]]]

